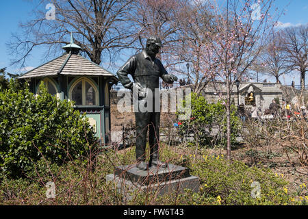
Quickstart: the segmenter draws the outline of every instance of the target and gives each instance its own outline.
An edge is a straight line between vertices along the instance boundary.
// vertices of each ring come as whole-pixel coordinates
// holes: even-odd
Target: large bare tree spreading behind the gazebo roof
[[[44,8],[50,1],[42,0],[33,13],[35,19],[21,23],[21,34],[12,34],[7,43],[12,64],[23,66],[36,48],[49,48],[46,57],[61,52],[70,32],[75,43],[84,49],[92,62],[101,64],[103,55],[127,47],[133,41],[129,12],[133,0],[68,0],[55,5],[55,20],[45,18]]]

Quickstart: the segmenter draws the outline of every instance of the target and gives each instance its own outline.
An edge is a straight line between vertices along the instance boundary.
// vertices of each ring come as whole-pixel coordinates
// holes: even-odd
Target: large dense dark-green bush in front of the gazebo
[[[57,165],[76,159],[97,141],[86,116],[51,96],[43,83],[36,96],[11,80],[0,103],[0,167],[10,177],[21,177],[41,157]]]

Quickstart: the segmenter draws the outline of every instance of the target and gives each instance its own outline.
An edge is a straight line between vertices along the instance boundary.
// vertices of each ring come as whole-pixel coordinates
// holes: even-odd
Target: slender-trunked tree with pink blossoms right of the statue
[[[243,79],[248,68],[259,55],[261,45],[274,26],[270,16],[272,0],[259,1],[193,1],[196,10],[207,11],[209,22],[194,17],[188,25],[194,27],[198,37],[184,42],[188,44],[194,64],[195,80],[224,81],[224,98],[227,111],[227,158],[231,159],[231,89],[237,79]],[[203,20],[205,21],[205,20]],[[186,34],[188,35],[188,34]],[[192,36],[192,35],[190,35]],[[189,37],[188,37],[189,38]]]

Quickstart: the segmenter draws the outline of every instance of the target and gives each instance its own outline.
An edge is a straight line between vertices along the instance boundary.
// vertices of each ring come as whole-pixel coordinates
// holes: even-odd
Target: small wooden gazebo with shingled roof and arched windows
[[[18,77],[29,83],[29,88],[38,94],[41,81],[50,94],[59,99],[75,101],[75,109],[86,112],[90,125],[101,143],[110,136],[110,88],[118,83],[115,75],[79,54],[81,47],[74,43],[62,47],[66,52]]]

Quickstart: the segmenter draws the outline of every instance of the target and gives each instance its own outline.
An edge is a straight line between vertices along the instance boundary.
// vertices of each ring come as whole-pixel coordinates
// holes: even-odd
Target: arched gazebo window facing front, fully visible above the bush
[[[99,95],[96,86],[86,77],[82,77],[73,83],[69,92],[70,100],[75,105],[98,105]]]

